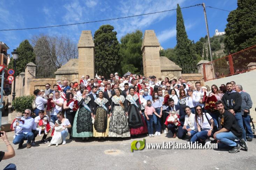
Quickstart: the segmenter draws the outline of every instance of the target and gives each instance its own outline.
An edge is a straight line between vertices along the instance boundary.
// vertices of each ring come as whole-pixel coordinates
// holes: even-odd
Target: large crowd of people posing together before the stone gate
[[[27,148],[35,144],[37,135],[46,143],[51,132],[49,146],[66,144],[66,138],[88,140],[97,137],[137,137],[148,133],[149,137],[172,133],[173,138],[219,147],[230,148],[236,153],[246,141],[252,141],[250,126],[250,95],[234,81],[201,86],[179,78],[178,80],[145,77],[142,75],[118,76],[109,79],[98,75],[90,79],[82,76],[80,82],[63,84],[57,81],[51,89],[35,90],[36,118],[31,110],[23,117],[16,115],[12,124],[15,130],[14,144]],[[212,139],[210,139],[210,137]],[[214,140],[213,140],[214,139]]]

